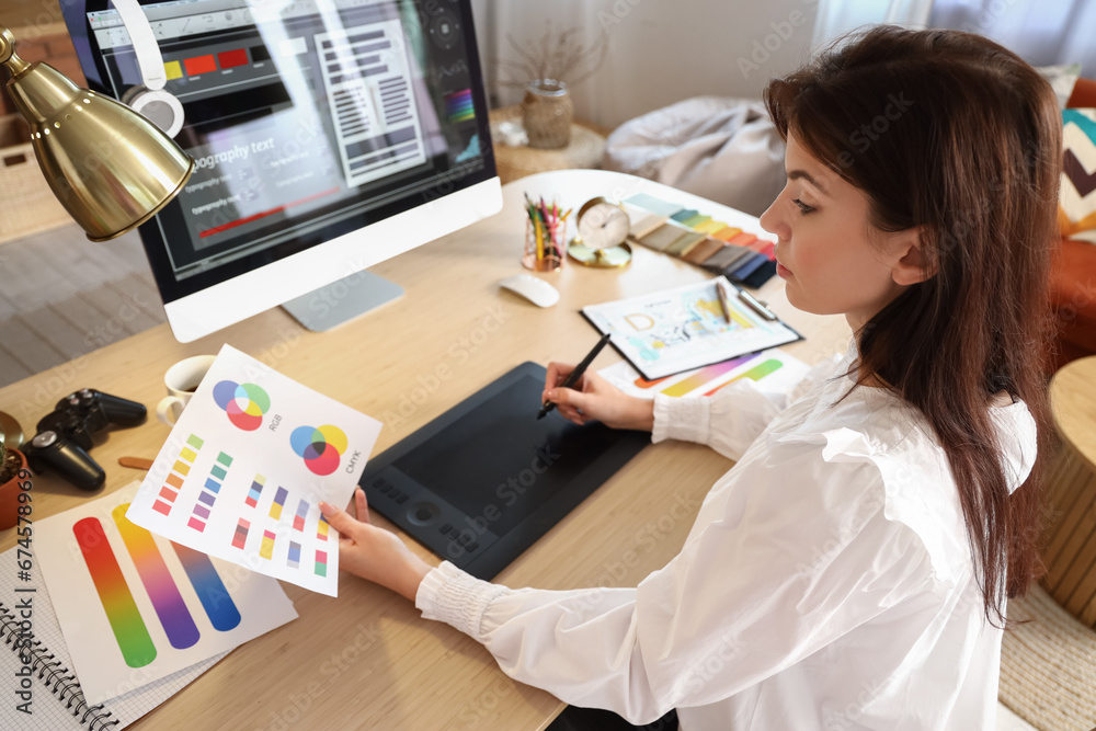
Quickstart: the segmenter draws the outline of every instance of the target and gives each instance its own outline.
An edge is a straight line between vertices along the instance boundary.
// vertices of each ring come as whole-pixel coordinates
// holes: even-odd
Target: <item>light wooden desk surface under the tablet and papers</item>
[[[61,396],[88,386],[140,401],[151,411],[164,395],[162,378],[169,365],[189,355],[216,353],[227,342],[385,422],[379,452],[517,363],[580,359],[596,339],[578,313],[582,306],[709,276],[636,247],[625,270],[568,262],[561,272],[541,275],[562,297],[552,308],[535,307],[498,286],[501,278],[523,271],[524,192],[574,208],[595,195],[623,199],[648,192],[745,230],[761,230],[755,218],[619,173],[533,175],[504,187],[502,213],[373,267],[407,294],[335,331],[307,332],[281,308],[185,345],[161,325],[0,389],[0,409],[33,433]],[[761,297],[807,335],[787,347],[797,357],[814,363],[847,346],[844,318],[794,310],[780,279],[766,284]],[[619,356],[606,349],[592,367],[615,359]],[[144,477],[118,466],[118,457],[155,457],[168,433],[152,418],[141,426],[100,435],[91,455],[106,470],[104,491]],[[705,493],[729,466],[699,445],[649,446],[496,581],[544,589],[633,586],[681,548]],[[34,519],[88,499],[53,475],[36,479],[34,495]],[[391,527],[379,516],[376,521]],[[0,534],[0,550],[14,545],[13,534]],[[404,539],[437,562],[412,538]],[[338,598],[283,586],[299,619],[238,648],[133,728],[321,728],[350,722],[401,731],[541,729],[562,708],[547,693],[507,678],[478,643],[421,619],[406,599],[355,576],[341,576]]]

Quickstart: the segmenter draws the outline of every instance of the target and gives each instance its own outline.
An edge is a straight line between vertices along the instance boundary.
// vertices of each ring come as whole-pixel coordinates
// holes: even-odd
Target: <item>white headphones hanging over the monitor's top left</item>
[[[127,89],[122,94],[122,103],[139,112],[167,133],[168,137],[174,137],[183,128],[183,104],[163,89],[168,83],[168,75],[163,69],[160,44],[152,34],[152,25],[137,0],[113,0],[113,3],[122,18],[122,24],[129,32],[141,76],[141,84]]]

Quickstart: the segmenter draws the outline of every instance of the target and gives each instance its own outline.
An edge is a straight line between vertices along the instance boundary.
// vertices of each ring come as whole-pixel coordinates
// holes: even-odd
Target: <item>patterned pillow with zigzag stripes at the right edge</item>
[[[1096,243],[1096,110],[1063,110],[1062,236]]]

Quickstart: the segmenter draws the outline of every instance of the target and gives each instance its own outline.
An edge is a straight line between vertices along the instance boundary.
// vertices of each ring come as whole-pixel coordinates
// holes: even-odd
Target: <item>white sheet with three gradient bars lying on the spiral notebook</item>
[[[295,619],[277,581],[126,518],[138,483],[37,522],[42,566],[89,704],[126,694]]]

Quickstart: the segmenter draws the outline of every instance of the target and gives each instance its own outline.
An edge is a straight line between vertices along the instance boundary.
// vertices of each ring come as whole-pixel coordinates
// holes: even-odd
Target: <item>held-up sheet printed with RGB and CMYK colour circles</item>
[[[380,422],[225,345],[127,516],[155,534],[336,596],[345,505]]]

